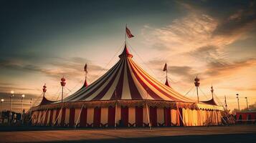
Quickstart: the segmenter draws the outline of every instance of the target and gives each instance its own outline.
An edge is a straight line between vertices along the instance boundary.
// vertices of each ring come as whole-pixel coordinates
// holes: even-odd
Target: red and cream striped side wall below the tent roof
[[[115,113],[115,109],[117,112]],[[65,113],[64,113],[65,112]],[[116,119],[114,118],[116,114]],[[32,112],[32,124],[62,127],[207,126],[222,122],[218,110],[166,107],[83,107]]]

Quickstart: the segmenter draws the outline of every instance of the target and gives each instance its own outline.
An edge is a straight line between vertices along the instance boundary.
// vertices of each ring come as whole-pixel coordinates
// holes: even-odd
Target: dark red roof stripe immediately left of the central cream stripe
[[[120,77],[118,79],[118,84],[115,87],[115,90],[113,92],[113,95],[110,99],[115,100],[115,99],[121,99],[122,98],[122,92],[123,92],[123,77],[124,77],[124,72],[125,72],[125,60],[123,59],[122,62],[123,68],[120,74]],[[116,95],[115,95],[116,92]],[[116,96],[116,97],[115,97]]]

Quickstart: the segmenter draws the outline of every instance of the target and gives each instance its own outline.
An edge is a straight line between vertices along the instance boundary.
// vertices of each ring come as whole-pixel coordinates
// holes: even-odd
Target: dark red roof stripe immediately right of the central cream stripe
[[[129,69],[129,66],[127,64],[127,76],[128,76],[128,84],[129,84],[129,89],[131,93],[131,99],[143,99],[141,97],[140,92],[138,92],[138,89],[133,81],[133,77],[131,77],[131,71]]]

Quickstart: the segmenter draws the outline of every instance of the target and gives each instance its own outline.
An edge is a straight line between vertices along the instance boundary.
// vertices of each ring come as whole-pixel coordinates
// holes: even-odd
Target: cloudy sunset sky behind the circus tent
[[[37,104],[42,86],[48,99],[60,99],[82,86],[88,64],[89,84],[118,61],[125,24],[133,59],[164,82],[169,65],[171,86],[196,99],[194,77],[201,80],[199,98],[237,108],[235,94],[256,102],[256,1],[0,1],[0,98],[15,111],[21,94]]]

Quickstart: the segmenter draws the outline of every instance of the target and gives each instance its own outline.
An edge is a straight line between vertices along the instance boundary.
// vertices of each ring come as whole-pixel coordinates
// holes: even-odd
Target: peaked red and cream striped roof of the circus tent
[[[120,60],[100,79],[65,98],[64,102],[113,99],[151,99],[194,102],[171,87],[158,82],[136,64],[125,46]],[[116,94],[115,94],[116,93]],[[54,102],[54,103],[60,103]]]

